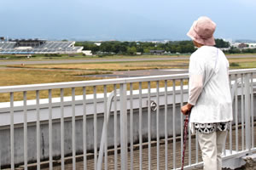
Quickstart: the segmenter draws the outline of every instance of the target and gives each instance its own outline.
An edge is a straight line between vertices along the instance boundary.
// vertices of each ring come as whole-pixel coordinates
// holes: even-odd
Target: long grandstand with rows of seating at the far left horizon
[[[9,39],[0,42],[0,54],[77,54],[83,47],[75,42],[56,42],[39,39]]]

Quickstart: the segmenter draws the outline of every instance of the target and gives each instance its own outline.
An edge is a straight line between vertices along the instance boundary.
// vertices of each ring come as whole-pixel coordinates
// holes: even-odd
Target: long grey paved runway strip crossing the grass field
[[[236,59],[236,58],[256,58],[256,54],[251,55],[235,55],[235,56],[228,56],[229,59]],[[36,65],[36,64],[67,64],[67,63],[93,63],[93,62],[118,62],[118,61],[154,61],[154,60],[177,60],[177,59],[189,59],[188,57],[170,57],[170,58],[129,58],[129,59],[64,59],[64,60],[36,60],[36,61],[1,61],[0,65]]]

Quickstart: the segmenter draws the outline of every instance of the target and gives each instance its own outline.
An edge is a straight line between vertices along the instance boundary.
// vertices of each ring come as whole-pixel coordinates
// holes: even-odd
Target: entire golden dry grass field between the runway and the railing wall
[[[238,66],[231,67],[255,68],[256,58],[239,58],[229,59],[230,63],[237,63]],[[170,60],[170,61],[135,61],[135,62],[110,62],[110,63],[84,63],[84,64],[61,64],[61,65],[12,65],[17,68],[2,68],[0,70],[0,86],[13,86],[22,84],[49,83],[49,82],[74,82],[96,80],[102,78],[79,77],[84,75],[111,73],[107,71],[128,71],[128,70],[147,70],[147,69],[166,69],[166,68],[188,68],[189,59],[187,60]],[[177,81],[176,85],[180,82]],[[183,84],[187,84],[184,81]],[[165,87],[165,82],[160,81],[160,88]],[[172,81],[167,81],[167,86],[172,87]],[[156,82],[151,83],[151,88],[156,88]],[[117,86],[119,88],[119,86]],[[127,84],[128,90],[130,84]],[[133,89],[138,89],[139,83],[133,83]],[[142,82],[142,88],[148,88],[148,82]],[[103,93],[103,87],[96,88],[97,93]],[[75,88],[76,95],[83,93],[82,88]],[[108,92],[113,91],[113,85],[107,86]],[[92,94],[93,88],[86,88],[86,94]],[[40,98],[48,98],[48,91],[40,91]],[[64,95],[70,96],[71,89],[64,89]],[[60,89],[52,91],[53,97],[60,97]],[[35,92],[28,92],[27,99],[35,99]],[[15,93],[15,100],[23,99],[22,93]],[[9,101],[9,94],[0,94],[0,102]]]

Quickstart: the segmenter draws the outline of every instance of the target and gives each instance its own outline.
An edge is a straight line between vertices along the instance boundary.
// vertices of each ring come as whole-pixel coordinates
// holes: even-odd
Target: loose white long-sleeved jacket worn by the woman
[[[189,59],[190,122],[230,122],[232,102],[229,61],[215,47],[202,46]]]

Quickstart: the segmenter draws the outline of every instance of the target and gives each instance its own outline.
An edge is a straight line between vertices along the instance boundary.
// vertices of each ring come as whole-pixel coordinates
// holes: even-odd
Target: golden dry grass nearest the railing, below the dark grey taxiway
[[[13,85],[21,85],[21,84],[34,84],[34,83],[49,83],[49,82],[73,82],[73,81],[85,81],[92,80],[96,78],[84,78],[84,77],[76,77],[74,75],[78,74],[88,74],[87,71],[52,71],[52,70],[38,70],[38,69],[2,69],[0,72],[0,86],[13,86]],[[176,85],[179,85],[180,82],[176,81]],[[183,84],[187,84],[188,81],[184,80]],[[167,87],[172,87],[172,80],[166,81]],[[151,82],[150,88],[156,88],[157,83]],[[159,82],[159,87],[165,87],[165,81]],[[108,93],[112,92],[114,89],[113,85],[106,86]],[[117,87],[119,85],[117,84]],[[139,89],[139,82],[132,83],[133,90]],[[148,88],[148,82],[142,82],[142,88]],[[93,94],[93,87],[86,87],[86,94]],[[130,84],[127,84],[127,90],[130,90]],[[96,87],[96,93],[100,94],[104,92],[103,86]],[[75,88],[76,95],[83,94],[83,88]],[[71,96],[72,89],[65,88],[64,96]],[[15,101],[23,99],[23,92],[15,93]],[[47,99],[49,97],[48,90],[42,90],[39,92],[40,99]],[[53,89],[52,97],[60,97],[61,90]],[[9,101],[9,94],[0,94],[0,102]],[[36,92],[27,92],[27,99],[36,99]]]

